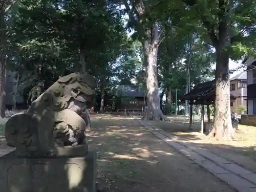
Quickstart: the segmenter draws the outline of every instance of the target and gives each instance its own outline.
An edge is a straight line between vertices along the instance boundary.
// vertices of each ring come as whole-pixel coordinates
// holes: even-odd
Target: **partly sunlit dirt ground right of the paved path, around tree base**
[[[256,127],[239,125],[241,132],[236,134],[236,140],[218,142],[208,140],[200,131],[200,122],[193,125],[194,132],[188,133],[188,123],[184,118],[172,118],[171,122],[150,122],[163,131],[175,136],[176,141],[194,143],[200,148],[220,155],[256,173]]]

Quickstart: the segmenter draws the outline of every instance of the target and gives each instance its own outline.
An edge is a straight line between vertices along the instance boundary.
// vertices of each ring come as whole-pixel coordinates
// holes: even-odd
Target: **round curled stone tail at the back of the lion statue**
[[[36,141],[37,120],[27,113],[17,113],[10,117],[5,125],[7,145],[28,147]]]

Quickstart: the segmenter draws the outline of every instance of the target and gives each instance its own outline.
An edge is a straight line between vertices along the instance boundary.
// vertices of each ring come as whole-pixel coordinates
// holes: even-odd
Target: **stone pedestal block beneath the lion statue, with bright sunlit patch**
[[[1,192],[95,192],[96,153],[86,156],[0,158]]]

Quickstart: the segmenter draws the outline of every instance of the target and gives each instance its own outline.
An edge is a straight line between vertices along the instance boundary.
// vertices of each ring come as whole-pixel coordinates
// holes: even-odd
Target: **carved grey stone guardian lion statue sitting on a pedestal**
[[[59,78],[32,102],[27,113],[8,119],[7,144],[24,156],[52,156],[56,147],[82,144],[86,123],[81,114],[90,107],[95,89],[96,80],[88,74]]]

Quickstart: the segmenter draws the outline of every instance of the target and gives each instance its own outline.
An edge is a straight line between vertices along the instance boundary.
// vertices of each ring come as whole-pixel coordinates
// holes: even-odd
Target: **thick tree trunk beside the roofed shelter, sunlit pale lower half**
[[[219,33],[217,36],[211,36],[216,49],[216,99],[215,99],[215,117],[214,126],[209,137],[214,136],[217,140],[232,139],[234,129],[231,122],[230,111],[230,84],[228,47],[231,46],[231,12],[233,1],[220,1],[219,3]]]

